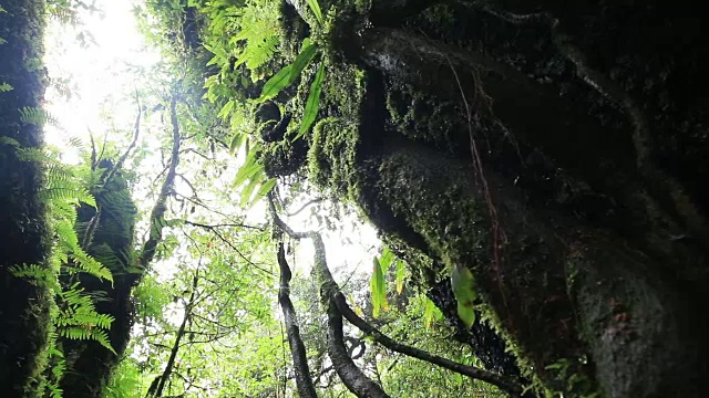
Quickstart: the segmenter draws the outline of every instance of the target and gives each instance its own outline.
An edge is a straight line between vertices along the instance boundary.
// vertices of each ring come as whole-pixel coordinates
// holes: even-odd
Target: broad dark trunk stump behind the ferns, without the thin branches
[[[81,289],[97,297],[96,312],[114,318],[109,342],[117,355],[94,341],[60,337],[58,342],[62,345],[68,366],[60,387],[66,397],[102,396],[111,371],[127,347],[134,316],[131,293],[142,276],[133,254],[137,210],[127,182],[112,161],[102,160],[99,166],[105,168],[104,178],[110,180],[91,188],[96,208],[79,208],[76,233],[84,250],[111,271],[113,282],[88,274],[78,276]],[[105,177],[109,174],[111,176]],[[61,277],[65,286],[75,283],[75,275]]]

